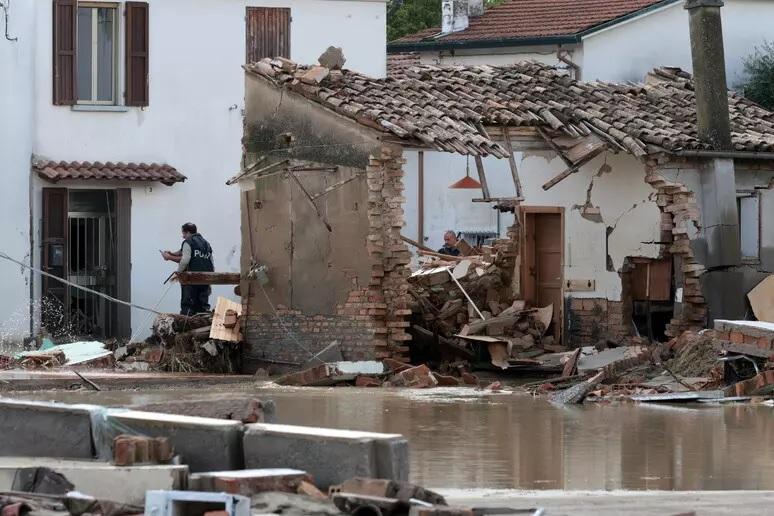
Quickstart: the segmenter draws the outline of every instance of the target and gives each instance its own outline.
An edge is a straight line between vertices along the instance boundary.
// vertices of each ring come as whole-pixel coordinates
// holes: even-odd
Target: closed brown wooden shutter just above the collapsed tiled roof
[[[290,9],[287,7],[248,7],[246,60],[264,57],[290,59]]]

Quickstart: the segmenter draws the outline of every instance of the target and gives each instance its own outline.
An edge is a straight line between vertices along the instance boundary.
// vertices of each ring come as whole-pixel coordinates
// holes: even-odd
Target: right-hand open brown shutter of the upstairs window
[[[126,2],[126,105],[148,105],[148,4]]]

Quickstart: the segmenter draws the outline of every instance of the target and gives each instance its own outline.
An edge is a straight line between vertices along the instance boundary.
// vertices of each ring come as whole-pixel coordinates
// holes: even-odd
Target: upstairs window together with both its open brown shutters
[[[54,104],[147,106],[148,3],[53,2]],[[119,83],[122,70],[124,102]]]

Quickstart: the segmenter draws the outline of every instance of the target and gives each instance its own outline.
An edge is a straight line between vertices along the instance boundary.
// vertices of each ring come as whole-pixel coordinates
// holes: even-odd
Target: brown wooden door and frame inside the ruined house
[[[561,342],[564,281],[564,210],[522,206],[521,293],[528,306],[554,306],[546,333]]]

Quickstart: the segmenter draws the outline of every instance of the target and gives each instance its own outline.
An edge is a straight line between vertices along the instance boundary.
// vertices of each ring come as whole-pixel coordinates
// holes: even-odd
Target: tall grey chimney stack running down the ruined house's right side
[[[714,151],[730,151],[731,123],[720,21],[722,0],[685,0],[688,10],[699,140]],[[701,232],[691,242],[707,272],[701,276],[709,321],[744,316],[736,171],[730,157],[702,166]]]

